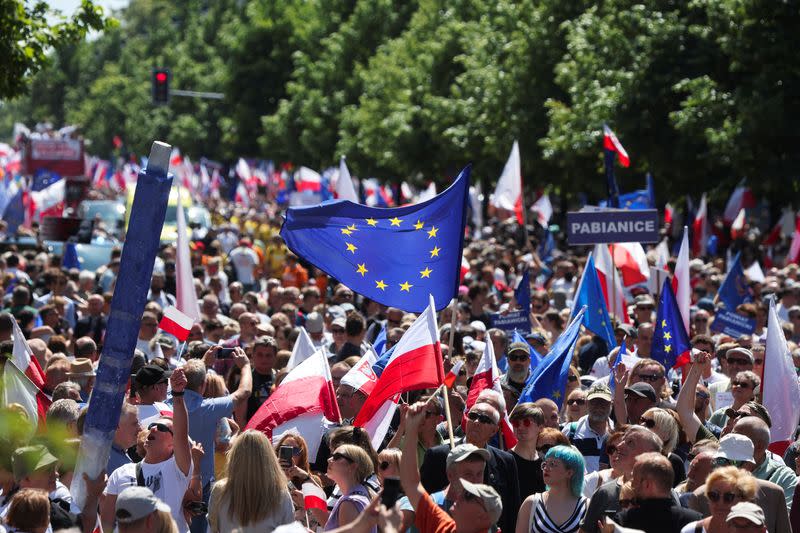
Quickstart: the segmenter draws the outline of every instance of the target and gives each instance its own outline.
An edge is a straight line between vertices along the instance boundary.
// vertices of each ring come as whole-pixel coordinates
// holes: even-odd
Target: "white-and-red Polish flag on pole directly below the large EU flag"
[[[436,307],[430,305],[414,321],[400,341],[367,397],[354,426],[365,427],[379,415],[383,404],[397,395],[412,390],[435,388],[444,381]]]

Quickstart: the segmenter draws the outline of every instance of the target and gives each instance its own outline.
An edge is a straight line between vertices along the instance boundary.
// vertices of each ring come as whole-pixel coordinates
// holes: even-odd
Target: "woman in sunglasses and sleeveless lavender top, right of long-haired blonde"
[[[375,470],[372,459],[363,449],[353,444],[343,444],[334,449],[328,458],[328,477],[336,483],[342,497],[336,500],[331,510],[325,531],[349,524],[369,505],[372,493],[364,485],[364,480]],[[377,533],[373,526],[371,533]]]

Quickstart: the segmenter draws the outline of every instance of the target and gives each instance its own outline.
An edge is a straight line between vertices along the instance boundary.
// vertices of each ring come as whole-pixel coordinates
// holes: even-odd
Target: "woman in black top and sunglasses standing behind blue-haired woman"
[[[519,496],[527,498],[531,494],[545,490],[542,477],[542,457],[536,450],[539,432],[544,427],[542,410],[531,402],[517,404],[511,411],[511,426],[517,445],[511,448],[519,477]]]

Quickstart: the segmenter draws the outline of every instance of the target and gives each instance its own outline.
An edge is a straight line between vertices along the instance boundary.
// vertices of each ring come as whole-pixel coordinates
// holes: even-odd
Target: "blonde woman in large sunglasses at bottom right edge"
[[[752,502],[758,485],[753,475],[735,466],[718,468],[706,480],[706,497],[711,516],[686,524],[681,533],[727,533],[726,518],[731,507]]]

